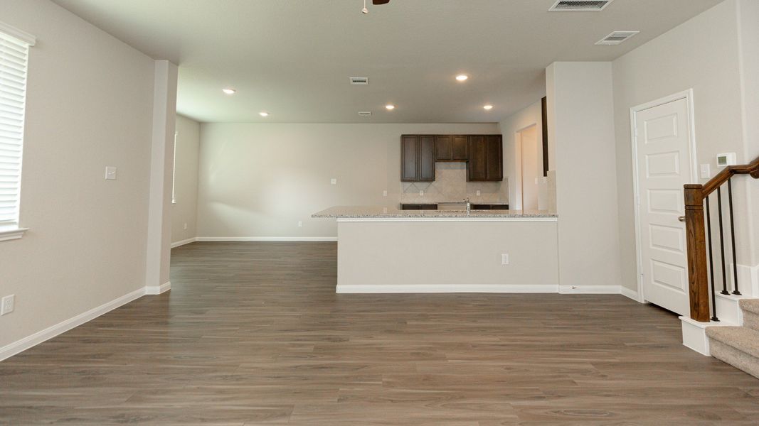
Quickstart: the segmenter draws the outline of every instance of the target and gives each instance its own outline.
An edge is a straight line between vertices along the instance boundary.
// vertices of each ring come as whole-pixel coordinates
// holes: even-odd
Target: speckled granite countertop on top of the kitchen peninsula
[[[312,218],[558,218],[549,211],[521,210],[400,210],[393,206],[345,205],[314,213]]]

